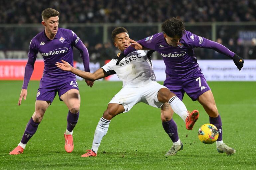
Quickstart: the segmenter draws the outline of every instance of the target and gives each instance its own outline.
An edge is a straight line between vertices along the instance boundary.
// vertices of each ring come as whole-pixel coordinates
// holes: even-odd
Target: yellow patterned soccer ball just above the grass
[[[219,137],[219,132],[216,126],[212,124],[204,124],[198,130],[198,138],[205,144],[214,143]]]

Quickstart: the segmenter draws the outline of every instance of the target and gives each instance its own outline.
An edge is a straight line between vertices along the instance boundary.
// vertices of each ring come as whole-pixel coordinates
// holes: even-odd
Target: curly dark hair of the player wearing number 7
[[[165,20],[161,27],[162,31],[169,37],[178,35],[181,38],[185,33],[184,23],[181,19],[178,19],[178,17]]]

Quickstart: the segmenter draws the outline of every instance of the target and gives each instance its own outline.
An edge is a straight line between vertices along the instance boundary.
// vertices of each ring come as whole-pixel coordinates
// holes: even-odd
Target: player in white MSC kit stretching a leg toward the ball
[[[128,31],[123,27],[115,28],[112,31],[112,39],[114,45],[121,51],[130,45]],[[75,69],[64,60],[62,60],[63,63],[56,63],[57,67],[62,70],[70,71],[87,80],[94,81],[117,74],[119,79],[123,81],[123,88],[110,100],[107,110],[99,120],[91,150],[86,150],[88,152],[81,157],[97,156],[98,147],[107,133],[111,119],[120,113],[130,111],[139,102],[161,108],[163,128],[173,142],[173,146],[165,155],[175,155],[177,151],[183,149],[183,144],[178,136],[177,125],[172,119],[173,112],[171,112],[170,106],[178,115],[185,115],[183,120],[186,122],[186,127],[193,126],[199,114],[197,110],[190,113],[174,93],[157,83],[150,59],[153,52],[153,50],[137,50],[122,59],[116,57],[96,70],[95,73]]]

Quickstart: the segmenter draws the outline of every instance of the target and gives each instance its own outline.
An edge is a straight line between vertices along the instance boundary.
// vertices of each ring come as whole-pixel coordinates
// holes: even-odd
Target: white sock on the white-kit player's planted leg
[[[91,149],[97,153],[102,138],[107,134],[110,120],[106,120],[103,117],[100,118],[96,127]]]

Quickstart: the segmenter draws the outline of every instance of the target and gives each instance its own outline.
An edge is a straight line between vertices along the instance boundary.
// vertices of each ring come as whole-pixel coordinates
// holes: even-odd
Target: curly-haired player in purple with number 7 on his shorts
[[[137,42],[130,40],[133,43],[131,46],[136,47],[136,44],[139,43],[143,47],[153,49],[161,54],[166,65],[166,80],[164,85],[181,100],[185,92],[193,101],[197,100],[209,115],[210,123],[218,128],[217,151],[219,153],[225,152],[228,155],[234,154],[236,152],[235,149],[227,146],[222,141],[221,118],[211,89],[197,63],[193,48],[210,48],[224,54],[233,59],[239,70],[243,67],[243,58],[217,42],[185,30],[183,21],[177,17],[166,20],[162,24],[162,30],[163,32]],[[131,46],[125,49],[120,56],[123,57],[135,51]],[[183,115],[180,116],[183,118]]]

